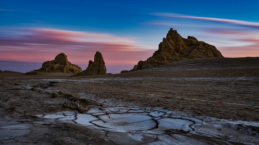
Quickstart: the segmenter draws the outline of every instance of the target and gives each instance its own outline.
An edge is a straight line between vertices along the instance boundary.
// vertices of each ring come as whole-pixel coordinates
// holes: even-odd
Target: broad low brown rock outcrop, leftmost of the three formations
[[[64,53],[61,53],[55,57],[54,60],[45,61],[42,67],[37,72],[45,73],[80,73],[82,69],[75,64],[71,64]]]

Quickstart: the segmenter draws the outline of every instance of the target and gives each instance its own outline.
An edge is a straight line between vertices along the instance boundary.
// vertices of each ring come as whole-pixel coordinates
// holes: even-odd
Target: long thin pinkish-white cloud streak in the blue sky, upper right
[[[243,26],[243,27],[253,27],[253,28],[259,29],[259,23],[257,23],[257,22],[241,21],[241,20],[234,20],[234,19],[199,17],[199,16],[172,14],[172,13],[152,13],[151,15],[161,16],[161,17],[173,17],[173,18],[196,19],[196,20],[205,20],[205,21],[213,21],[213,22],[222,22],[222,23],[239,25],[239,26]]]

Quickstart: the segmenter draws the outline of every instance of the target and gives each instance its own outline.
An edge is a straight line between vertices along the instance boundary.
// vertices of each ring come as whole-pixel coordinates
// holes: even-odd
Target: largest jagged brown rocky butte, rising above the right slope
[[[153,56],[145,61],[140,60],[138,65],[135,65],[130,71],[147,69],[174,61],[208,57],[224,58],[215,46],[198,41],[192,36],[188,36],[187,39],[183,38],[177,30],[171,28],[166,38],[163,38],[163,42],[159,43],[158,50]],[[125,72],[128,71],[121,71],[121,73]]]

